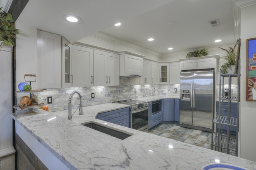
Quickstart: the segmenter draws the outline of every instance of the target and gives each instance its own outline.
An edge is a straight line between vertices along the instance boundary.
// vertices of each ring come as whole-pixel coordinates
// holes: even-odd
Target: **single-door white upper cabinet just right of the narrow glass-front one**
[[[93,49],[72,44],[71,55],[73,87],[93,85]]]

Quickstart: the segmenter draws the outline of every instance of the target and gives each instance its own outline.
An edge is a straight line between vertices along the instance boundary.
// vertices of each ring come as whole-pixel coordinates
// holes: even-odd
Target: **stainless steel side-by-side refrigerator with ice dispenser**
[[[214,71],[180,72],[180,126],[211,131]]]

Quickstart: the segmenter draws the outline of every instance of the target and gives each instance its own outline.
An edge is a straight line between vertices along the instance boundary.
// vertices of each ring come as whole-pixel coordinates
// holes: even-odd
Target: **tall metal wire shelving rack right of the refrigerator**
[[[222,74],[220,70],[219,107],[216,117],[212,119],[212,150],[238,156],[239,99],[240,99],[240,60],[234,74]],[[224,95],[224,80],[228,79],[228,95]],[[232,96],[232,80],[237,80],[237,96]],[[227,88],[225,88],[227,89]],[[236,117],[231,117],[231,105],[236,103]],[[214,131],[215,126],[215,131]],[[236,135],[230,128],[236,127]]]

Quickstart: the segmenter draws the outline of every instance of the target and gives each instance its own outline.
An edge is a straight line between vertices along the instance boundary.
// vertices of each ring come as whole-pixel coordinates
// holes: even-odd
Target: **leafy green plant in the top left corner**
[[[14,26],[12,14],[0,8],[0,50],[2,45],[15,45],[16,34],[19,34],[19,30]]]

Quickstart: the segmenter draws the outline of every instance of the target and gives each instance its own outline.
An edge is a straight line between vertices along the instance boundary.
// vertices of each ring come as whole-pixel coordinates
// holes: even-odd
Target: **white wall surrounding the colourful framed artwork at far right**
[[[256,161],[256,102],[246,101],[246,39],[256,38],[256,5],[241,9],[241,157]]]

